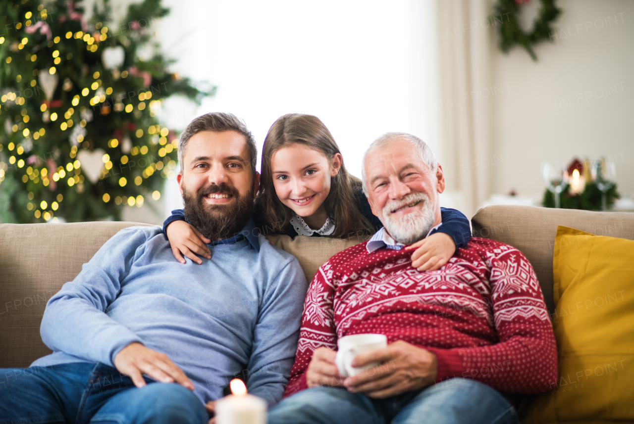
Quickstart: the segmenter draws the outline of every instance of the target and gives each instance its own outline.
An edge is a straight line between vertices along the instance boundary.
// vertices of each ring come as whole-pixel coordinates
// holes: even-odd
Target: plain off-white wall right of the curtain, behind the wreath
[[[542,160],[610,156],[619,192],[633,194],[634,2],[557,4],[557,35],[536,47],[537,62],[519,47],[508,55],[493,49],[492,84],[508,90],[492,99],[492,150],[508,160],[491,167],[491,192],[541,197]]]

